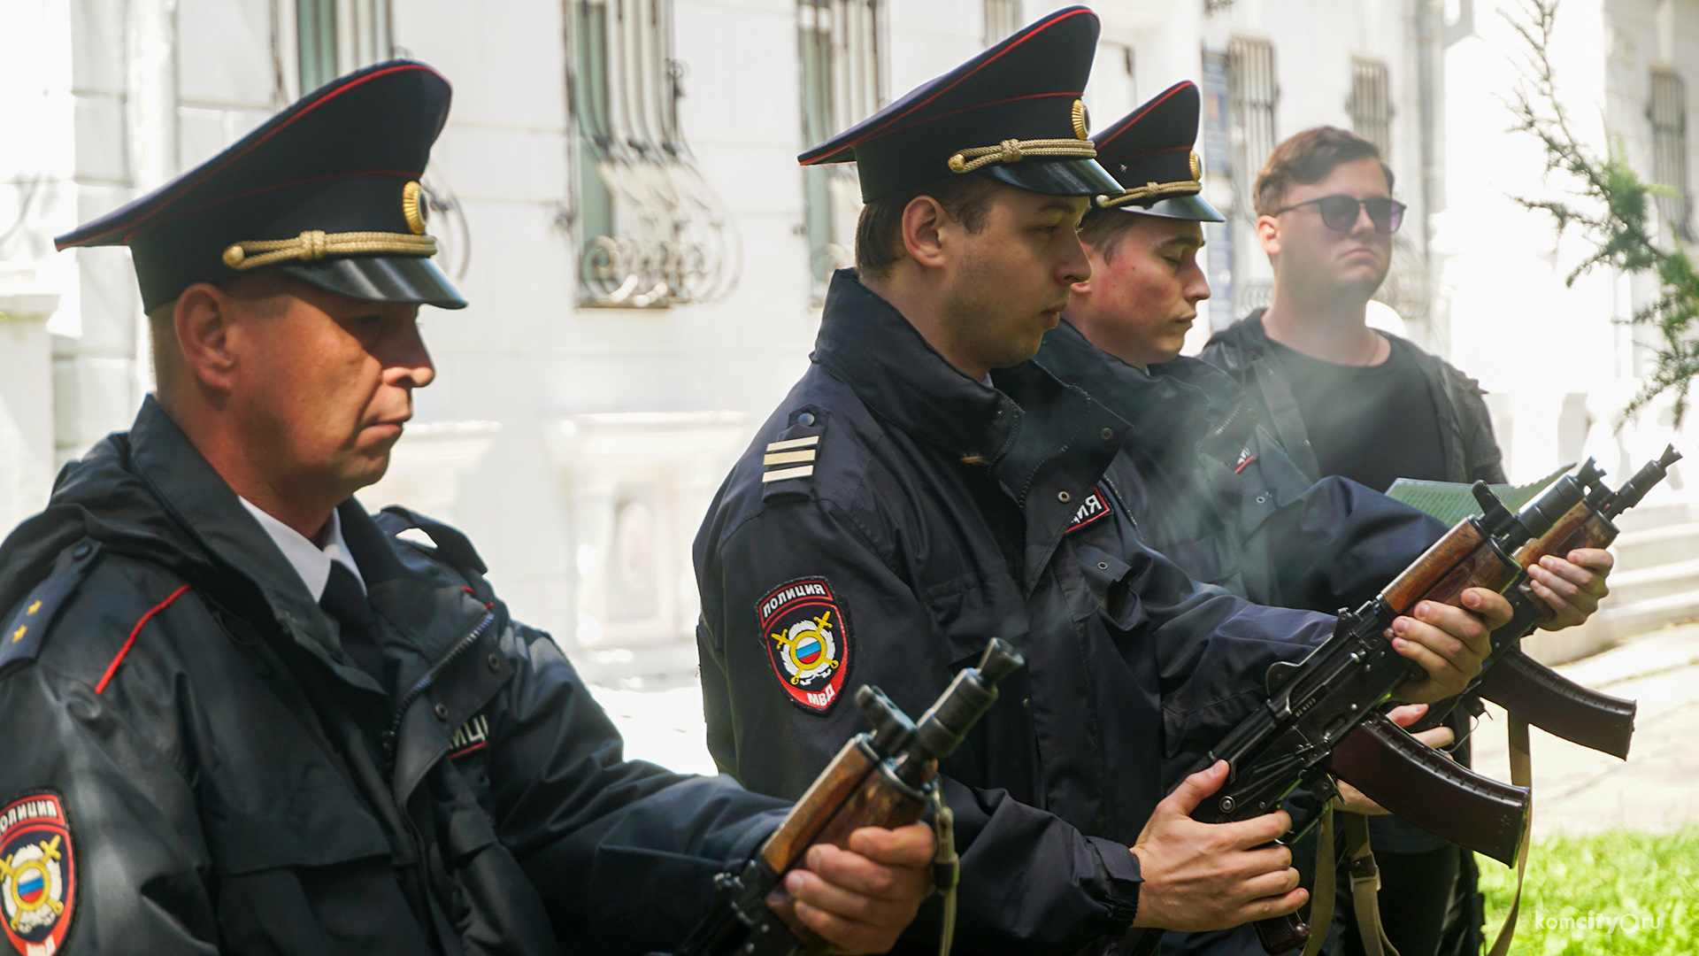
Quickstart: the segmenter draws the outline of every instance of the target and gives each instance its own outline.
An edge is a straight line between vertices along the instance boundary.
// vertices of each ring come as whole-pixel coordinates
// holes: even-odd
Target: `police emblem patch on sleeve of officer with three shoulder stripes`
[[[809,713],[829,711],[850,670],[850,624],[826,578],[775,589],[756,616],[780,687]]]

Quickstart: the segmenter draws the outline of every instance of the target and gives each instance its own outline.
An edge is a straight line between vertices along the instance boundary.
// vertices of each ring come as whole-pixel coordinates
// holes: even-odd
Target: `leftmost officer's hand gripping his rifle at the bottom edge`
[[[848,851],[809,847],[807,869],[787,873],[785,891],[797,900],[797,919],[834,953],[883,953],[933,891],[931,862],[926,823],[863,827],[850,834]]]

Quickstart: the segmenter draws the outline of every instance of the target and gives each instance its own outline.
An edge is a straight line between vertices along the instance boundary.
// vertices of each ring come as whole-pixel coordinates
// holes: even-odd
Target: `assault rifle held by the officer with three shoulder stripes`
[[[1376,709],[1408,677],[1425,675],[1391,646],[1385,631],[1422,600],[1461,606],[1465,589],[1504,592],[1517,583],[1524,572],[1516,553],[1549,532],[1583,502],[1587,490],[1583,481],[1565,476],[1512,514],[1476,481],[1473,492],[1482,515],[1459,521],[1378,595],[1341,612],[1334,634],[1301,662],[1269,667],[1267,704],[1233,728],[1196,767],[1227,760],[1228,776],[1193,818],[1227,823],[1259,817],[1276,810],[1296,788],[1330,800],[1337,794],[1332,776],[1339,772],[1330,760],[1334,748],[1363,726],[1386,743],[1374,750],[1381,760],[1363,771],[1369,776],[1402,772],[1419,779],[1425,793],[1442,793],[1437,803],[1446,811],[1446,832],[1441,835],[1495,859],[1514,859],[1527,818],[1527,788],[1502,784],[1454,764]],[[1341,776],[1361,786],[1361,774]],[[1303,830],[1295,827],[1284,840]],[[1269,953],[1295,949],[1308,937],[1308,927],[1295,915],[1257,920],[1256,930]]]

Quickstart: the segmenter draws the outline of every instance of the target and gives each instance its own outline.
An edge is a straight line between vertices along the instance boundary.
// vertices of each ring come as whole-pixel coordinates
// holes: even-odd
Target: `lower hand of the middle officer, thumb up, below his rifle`
[[[1227,929],[1296,912],[1291,851],[1273,840],[1291,827],[1284,811],[1233,823],[1199,823],[1191,811],[1227,781],[1227,762],[1186,777],[1157,805],[1133,845],[1143,885],[1133,925]]]

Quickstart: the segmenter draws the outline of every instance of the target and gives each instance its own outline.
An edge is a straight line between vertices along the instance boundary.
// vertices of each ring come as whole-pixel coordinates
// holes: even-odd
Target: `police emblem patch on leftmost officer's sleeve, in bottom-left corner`
[[[0,810],[0,919],[20,956],[65,946],[76,905],[76,862],[65,803],[32,793]]]

